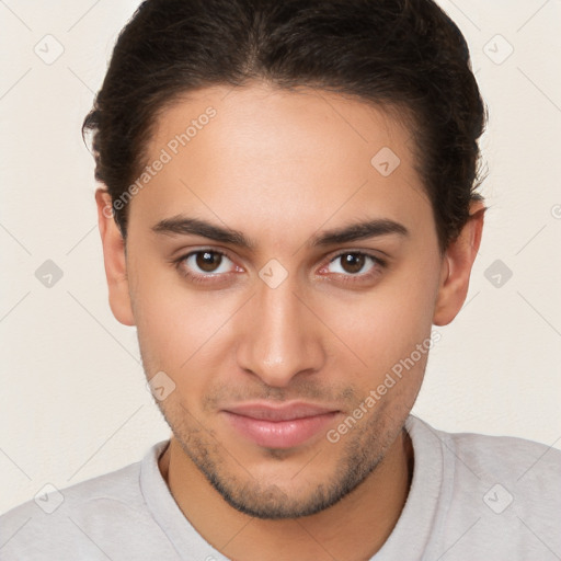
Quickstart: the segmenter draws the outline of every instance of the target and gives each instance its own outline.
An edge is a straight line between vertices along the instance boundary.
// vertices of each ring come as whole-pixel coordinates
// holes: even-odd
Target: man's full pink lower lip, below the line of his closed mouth
[[[325,430],[336,415],[333,412],[290,421],[267,421],[238,415],[229,411],[225,411],[225,413],[228,421],[239,433],[264,448],[299,446]]]

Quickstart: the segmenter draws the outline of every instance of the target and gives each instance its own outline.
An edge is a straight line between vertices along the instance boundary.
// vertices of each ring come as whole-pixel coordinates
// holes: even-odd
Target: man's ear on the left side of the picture
[[[113,218],[111,195],[107,191],[99,188],[95,192],[95,203],[98,204],[98,225],[103,244],[103,261],[110,290],[111,311],[121,323],[134,325],[135,319],[128,289],[125,242]]]

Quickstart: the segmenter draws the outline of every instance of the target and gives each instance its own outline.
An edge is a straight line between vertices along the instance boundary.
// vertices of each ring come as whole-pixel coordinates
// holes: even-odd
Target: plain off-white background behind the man
[[[0,1],[0,513],[169,436],[136,332],[107,305],[80,135],[137,4]],[[467,304],[438,328],[413,412],[446,431],[561,447],[561,1],[440,4],[470,44],[489,106],[490,209]],[[51,286],[41,282],[48,260],[62,274]]]

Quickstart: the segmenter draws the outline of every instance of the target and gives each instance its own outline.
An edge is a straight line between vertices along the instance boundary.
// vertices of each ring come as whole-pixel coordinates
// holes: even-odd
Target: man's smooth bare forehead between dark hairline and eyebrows
[[[251,237],[301,238],[369,217],[414,230],[432,211],[411,145],[391,114],[356,99],[264,84],[199,90],[159,115],[147,151],[159,171],[130,224],[186,214]]]

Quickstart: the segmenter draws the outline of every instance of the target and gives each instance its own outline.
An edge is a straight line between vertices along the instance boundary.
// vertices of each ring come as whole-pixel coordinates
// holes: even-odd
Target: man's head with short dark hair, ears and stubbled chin
[[[148,0],[122,32],[84,122],[110,304],[236,508],[312,514],[383,460],[466,298],[483,126],[430,0]],[[327,413],[263,439],[255,403]]]

